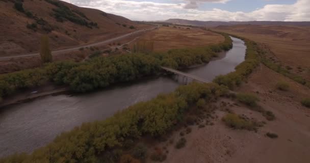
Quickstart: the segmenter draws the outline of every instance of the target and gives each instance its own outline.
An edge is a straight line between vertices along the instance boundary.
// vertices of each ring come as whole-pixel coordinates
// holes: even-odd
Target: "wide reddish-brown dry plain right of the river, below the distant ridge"
[[[264,44],[281,65],[310,80],[310,27],[235,25],[219,26],[215,30]]]

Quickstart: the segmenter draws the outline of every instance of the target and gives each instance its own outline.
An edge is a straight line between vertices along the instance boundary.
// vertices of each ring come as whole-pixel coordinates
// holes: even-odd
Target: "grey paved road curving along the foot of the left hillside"
[[[136,33],[144,32],[144,31],[150,31],[150,30],[153,30],[153,29],[156,29],[156,28],[157,28],[157,26],[154,27],[154,28],[139,30],[139,31],[135,31],[135,32],[132,32],[132,33],[125,34],[125,35],[121,35],[121,36],[118,36],[118,37],[115,37],[115,38],[111,38],[111,39],[108,39],[108,40],[105,40],[105,41],[100,41],[100,42],[95,42],[95,43],[91,43],[91,44],[87,44],[87,45],[79,45],[79,46],[70,47],[70,48],[66,48],[66,49],[60,49],[60,50],[51,51],[51,53],[53,55],[55,55],[55,54],[61,53],[61,52],[74,51],[74,50],[79,50],[80,48],[85,48],[85,47],[90,47],[90,46],[97,46],[97,45],[101,45],[101,44],[107,44],[107,43],[110,43],[110,42],[113,42],[113,41],[116,41],[116,40],[119,40],[119,39],[123,39],[123,38],[128,37],[128,36],[131,36],[131,35],[136,34]],[[39,53],[32,53],[32,54],[27,54],[27,55],[0,57],[0,60],[9,60],[9,59],[13,59],[13,58],[32,57],[32,56],[39,56]]]

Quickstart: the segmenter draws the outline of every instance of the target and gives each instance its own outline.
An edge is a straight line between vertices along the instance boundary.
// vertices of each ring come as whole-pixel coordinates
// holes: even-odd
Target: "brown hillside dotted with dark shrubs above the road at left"
[[[144,28],[148,25],[58,0],[1,0],[0,56],[38,51],[43,34],[49,36],[51,49],[55,50]]]

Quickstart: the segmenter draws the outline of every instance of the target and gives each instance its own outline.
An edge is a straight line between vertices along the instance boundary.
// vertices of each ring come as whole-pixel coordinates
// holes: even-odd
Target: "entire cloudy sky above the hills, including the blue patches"
[[[310,21],[310,0],[63,0],[132,20]]]

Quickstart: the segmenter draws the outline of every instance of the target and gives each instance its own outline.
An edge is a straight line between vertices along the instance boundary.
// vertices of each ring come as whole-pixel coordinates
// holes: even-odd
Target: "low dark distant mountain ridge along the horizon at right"
[[[298,25],[310,26],[310,21],[199,21],[186,19],[168,19],[165,22],[172,24],[194,25],[194,26],[219,26],[219,25]]]

